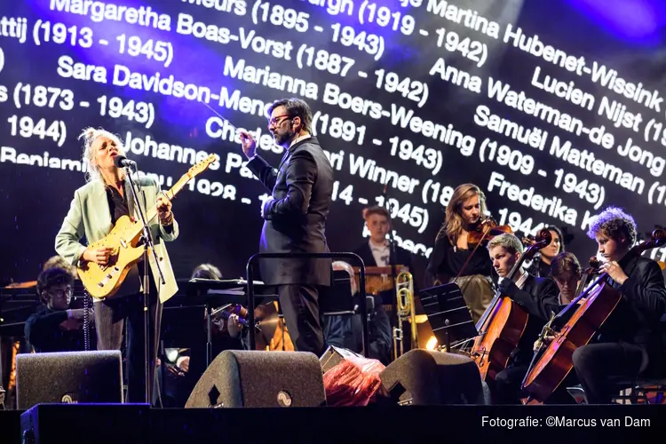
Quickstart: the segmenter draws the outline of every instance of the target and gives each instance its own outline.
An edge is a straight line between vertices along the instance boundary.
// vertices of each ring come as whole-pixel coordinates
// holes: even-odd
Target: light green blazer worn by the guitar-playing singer
[[[159,183],[147,176],[141,176],[139,180],[135,179],[135,182],[139,182],[141,186],[138,194],[141,208],[146,211],[147,209],[155,207],[157,195],[161,192]],[[130,214],[136,215],[136,217],[139,218],[139,213],[136,210],[134,202],[134,195],[131,193],[129,178],[125,179],[124,195],[127,196]],[[60,231],[58,235],[56,235],[55,250],[61,257],[65,258],[67,262],[76,265],[83,254],[83,250],[86,249],[81,243],[83,236],[85,236],[88,244],[97,242],[104,238],[111,231],[112,227],[111,211],[108,207],[106,187],[101,180],[93,179],[91,182],[75,191],[74,199],[69,207],[69,212],[67,212],[67,216],[62,222]],[[160,266],[165,281],[164,285],[160,285],[160,274],[155,266],[155,258],[152,252],[148,255],[148,260],[150,269],[153,273],[153,278],[155,279],[155,285],[158,289],[160,301],[164,303],[178,291],[178,284],[176,283],[176,277],[173,274],[169,253],[164,245],[164,242],[173,241],[178,237],[178,222],[176,222],[174,218],[173,227],[170,232],[168,232],[160,224],[159,219],[154,218],[153,222],[150,223],[150,230],[153,234],[157,258],[160,259]],[[129,278],[130,275],[128,275],[126,280],[129,280]],[[119,291],[122,292],[123,287],[124,283]],[[138,289],[141,289],[140,283]]]

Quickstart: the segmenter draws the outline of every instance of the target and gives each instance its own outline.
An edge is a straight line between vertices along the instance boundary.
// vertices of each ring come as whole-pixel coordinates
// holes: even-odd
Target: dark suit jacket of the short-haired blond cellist
[[[528,313],[527,327],[520,337],[518,347],[511,353],[511,366],[527,365],[532,359],[533,346],[543,329],[543,325],[551,319],[551,311],[558,313],[559,290],[551,278],[537,278],[532,274],[522,289],[513,286],[513,291],[506,293],[511,300]]]

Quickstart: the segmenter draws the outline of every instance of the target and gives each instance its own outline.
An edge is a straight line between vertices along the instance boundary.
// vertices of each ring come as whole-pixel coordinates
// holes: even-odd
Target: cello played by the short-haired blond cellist
[[[549,230],[541,230],[527,250],[520,256],[511,272],[504,279],[513,279],[520,266],[527,258],[532,258],[536,251],[551,243],[552,234]],[[476,328],[479,336],[474,340],[471,357],[479,366],[481,380],[486,377],[495,379],[497,373],[506,369],[511,352],[518,346],[520,337],[527,328],[529,315],[510,297],[497,290],[495,297],[483,313]]]

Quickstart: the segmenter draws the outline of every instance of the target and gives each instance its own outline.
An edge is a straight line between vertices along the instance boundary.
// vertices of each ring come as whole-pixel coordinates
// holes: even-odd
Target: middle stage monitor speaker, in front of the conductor
[[[321,365],[313,353],[226,350],[210,363],[185,407],[325,405]]]

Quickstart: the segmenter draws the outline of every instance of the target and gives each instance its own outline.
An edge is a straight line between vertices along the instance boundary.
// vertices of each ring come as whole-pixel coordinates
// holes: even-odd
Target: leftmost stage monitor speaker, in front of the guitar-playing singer
[[[16,408],[43,403],[123,402],[119,351],[16,355]]]

